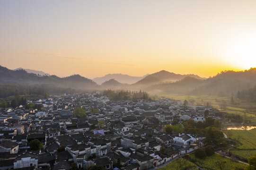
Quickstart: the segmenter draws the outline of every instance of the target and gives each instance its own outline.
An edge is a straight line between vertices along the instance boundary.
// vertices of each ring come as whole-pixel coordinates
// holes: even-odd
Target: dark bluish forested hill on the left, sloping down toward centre
[[[99,85],[94,81],[79,75],[64,78],[58,76],[37,76],[33,73],[27,73],[25,70],[10,70],[2,66],[0,66],[0,83],[19,85],[44,84],[83,90],[97,90],[99,88]]]

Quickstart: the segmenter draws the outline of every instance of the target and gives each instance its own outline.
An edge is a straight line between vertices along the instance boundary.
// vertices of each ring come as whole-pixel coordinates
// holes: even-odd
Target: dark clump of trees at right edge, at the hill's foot
[[[256,102],[256,86],[247,90],[238,91],[237,98],[248,102]]]

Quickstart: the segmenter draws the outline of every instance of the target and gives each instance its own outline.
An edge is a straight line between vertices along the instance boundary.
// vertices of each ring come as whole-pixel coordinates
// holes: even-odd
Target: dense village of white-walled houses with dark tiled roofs
[[[0,109],[0,170],[70,170],[71,163],[79,170],[91,165],[146,170],[203,145],[203,136],[164,134],[174,119],[203,122],[205,109],[221,118],[212,108],[161,98],[110,101],[100,93],[79,93],[27,102],[43,109]],[[73,116],[77,107],[86,110],[86,117]],[[30,148],[35,139],[44,149]]]

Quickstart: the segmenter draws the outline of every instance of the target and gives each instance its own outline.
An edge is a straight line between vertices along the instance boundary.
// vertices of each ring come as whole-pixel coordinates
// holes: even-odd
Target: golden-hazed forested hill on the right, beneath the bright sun
[[[245,71],[223,71],[206,80],[188,76],[174,83],[152,85],[145,90],[151,93],[230,96],[254,85],[256,68],[251,68]]]

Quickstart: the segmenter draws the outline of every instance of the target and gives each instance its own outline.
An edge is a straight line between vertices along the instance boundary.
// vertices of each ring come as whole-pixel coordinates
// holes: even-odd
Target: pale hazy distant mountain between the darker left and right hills
[[[145,75],[145,76],[148,76]],[[124,75],[124,74],[107,74],[106,76],[103,77],[96,77],[93,79],[98,85],[101,85],[102,83],[115,79],[116,81],[124,84],[133,84],[136,83],[137,81],[141,80],[145,76],[129,76],[129,75]]]

